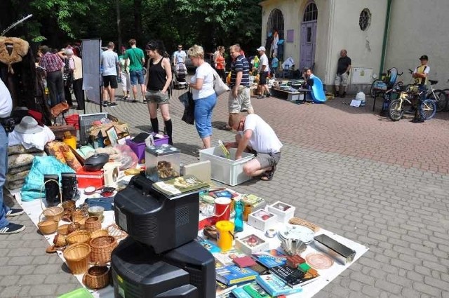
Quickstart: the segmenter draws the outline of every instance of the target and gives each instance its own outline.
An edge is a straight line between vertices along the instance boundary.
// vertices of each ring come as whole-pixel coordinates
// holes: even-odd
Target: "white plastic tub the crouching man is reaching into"
[[[203,149],[199,151],[199,160],[210,161],[210,168],[212,169],[210,177],[213,180],[234,187],[237,184],[251,180],[251,177],[243,172],[243,165],[254,158],[254,154],[243,152],[242,158],[235,161],[236,151],[236,148],[229,149],[231,158],[228,159],[225,158],[225,154],[223,154],[220,147]]]

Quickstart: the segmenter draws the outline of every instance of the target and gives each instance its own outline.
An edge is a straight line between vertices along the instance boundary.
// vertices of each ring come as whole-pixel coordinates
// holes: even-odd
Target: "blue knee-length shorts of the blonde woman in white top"
[[[216,103],[216,93],[195,100],[195,126],[201,139],[212,135],[212,111]]]

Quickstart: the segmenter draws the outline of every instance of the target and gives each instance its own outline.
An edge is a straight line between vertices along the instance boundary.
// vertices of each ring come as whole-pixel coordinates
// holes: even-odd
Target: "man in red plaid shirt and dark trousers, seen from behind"
[[[50,52],[48,46],[41,47],[42,57],[39,66],[46,70],[48,91],[50,91],[51,107],[60,102],[65,102],[64,80],[62,79],[62,67],[64,62],[56,54]]]

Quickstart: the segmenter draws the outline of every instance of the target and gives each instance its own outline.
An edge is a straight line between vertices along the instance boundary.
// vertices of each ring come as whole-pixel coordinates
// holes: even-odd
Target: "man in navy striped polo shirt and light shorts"
[[[241,48],[234,44],[229,48],[229,52],[234,59],[231,65],[231,92],[229,93],[229,121],[227,128],[231,127],[232,115],[246,111],[253,114],[254,109],[251,104],[250,94],[250,65],[244,55],[241,55]]]

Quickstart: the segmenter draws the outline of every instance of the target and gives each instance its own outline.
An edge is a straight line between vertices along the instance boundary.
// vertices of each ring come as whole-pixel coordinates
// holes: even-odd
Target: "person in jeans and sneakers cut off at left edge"
[[[59,58],[58,58],[59,59]],[[3,187],[6,180],[6,172],[8,170],[8,118],[13,109],[13,100],[11,93],[0,79],[0,235],[8,235],[19,233],[25,230],[22,224],[14,224],[9,222],[7,217],[21,215],[22,209],[9,208],[4,203]]]

